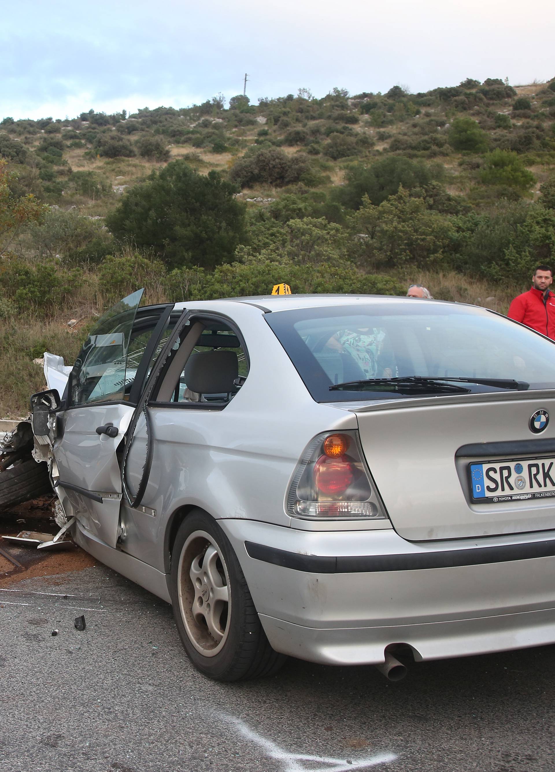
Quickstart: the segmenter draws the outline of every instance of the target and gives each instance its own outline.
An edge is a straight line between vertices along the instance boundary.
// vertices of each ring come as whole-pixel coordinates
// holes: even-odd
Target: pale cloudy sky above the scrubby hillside
[[[555,76],[553,0],[0,0],[0,118]]]

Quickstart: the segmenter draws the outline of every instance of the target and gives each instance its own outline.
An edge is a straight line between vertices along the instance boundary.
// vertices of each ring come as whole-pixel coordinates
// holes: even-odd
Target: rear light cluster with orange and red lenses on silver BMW
[[[287,510],[292,517],[310,520],[387,520],[358,432],[326,432],[312,440],[295,469]]]

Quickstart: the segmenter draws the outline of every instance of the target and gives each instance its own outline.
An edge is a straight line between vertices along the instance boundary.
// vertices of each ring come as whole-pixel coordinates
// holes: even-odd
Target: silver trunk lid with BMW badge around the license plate
[[[473,500],[469,469],[470,464],[506,461],[514,481],[520,461],[551,458],[555,479],[555,391],[381,401],[350,409],[357,415],[362,449],[393,527],[405,539],[555,528],[555,498],[481,503]],[[533,434],[530,418],[540,410],[554,418],[543,432]],[[527,481],[526,464],[522,466]],[[526,482],[523,493],[527,487]]]

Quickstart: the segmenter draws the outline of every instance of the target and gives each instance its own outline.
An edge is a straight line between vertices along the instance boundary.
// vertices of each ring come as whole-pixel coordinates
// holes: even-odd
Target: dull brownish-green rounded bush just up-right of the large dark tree
[[[278,147],[245,154],[230,169],[230,179],[247,188],[257,183],[282,187],[298,182],[308,171],[305,155],[288,156]]]

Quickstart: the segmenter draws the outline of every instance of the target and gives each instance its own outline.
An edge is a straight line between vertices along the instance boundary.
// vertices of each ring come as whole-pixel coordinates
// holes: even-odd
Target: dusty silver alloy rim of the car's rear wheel
[[[197,652],[214,657],[227,640],[231,596],[224,555],[210,533],[194,531],[183,544],[177,592],[187,637]]]

